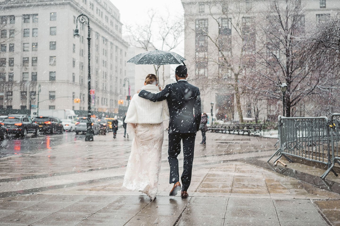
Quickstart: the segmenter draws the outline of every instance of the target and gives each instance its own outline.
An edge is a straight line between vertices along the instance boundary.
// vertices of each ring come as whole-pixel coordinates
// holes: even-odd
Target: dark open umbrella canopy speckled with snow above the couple
[[[155,65],[165,65],[165,64],[181,64],[185,61],[185,58],[180,55],[163,50],[151,50],[145,53],[138,54],[126,61],[133,64],[155,64]]]

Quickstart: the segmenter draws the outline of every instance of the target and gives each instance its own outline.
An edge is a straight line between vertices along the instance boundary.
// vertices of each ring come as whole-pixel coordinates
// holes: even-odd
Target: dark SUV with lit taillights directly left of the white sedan
[[[33,121],[39,125],[40,132],[43,133],[63,133],[64,127],[61,121],[55,117],[39,116],[33,118]]]

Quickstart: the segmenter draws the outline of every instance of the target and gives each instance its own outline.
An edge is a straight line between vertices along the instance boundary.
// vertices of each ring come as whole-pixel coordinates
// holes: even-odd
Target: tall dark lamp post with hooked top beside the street
[[[87,110],[88,110],[88,113],[87,113],[87,129],[86,129],[85,141],[93,141],[93,137],[95,133],[92,128],[92,122],[91,122],[90,20],[84,14],[81,14],[77,17],[75,30],[73,33],[74,37],[79,37],[78,21],[82,24],[87,24],[87,28],[88,28],[88,35],[87,35],[87,44],[88,44]]]

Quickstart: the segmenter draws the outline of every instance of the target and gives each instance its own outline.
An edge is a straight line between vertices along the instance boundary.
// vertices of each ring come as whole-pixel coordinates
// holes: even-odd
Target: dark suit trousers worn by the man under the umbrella
[[[181,141],[183,141],[183,173],[182,191],[187,191],[191,182],[191,171],[194,154],[196,133],[172,133],[169,134],[168,160],[170,164],[170,180],[169,183],[179,181],[178,159],[181,153]]]

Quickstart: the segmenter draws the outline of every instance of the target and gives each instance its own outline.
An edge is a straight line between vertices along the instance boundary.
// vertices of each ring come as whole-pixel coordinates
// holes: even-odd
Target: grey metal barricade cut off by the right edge
[[[325,179],[330,171],[333,170],[333,167],[336,163],[340,165],[340,114],[335,113],[330,117],[330,121],[328,123],[329,128],[329,136],[330,136],[330,153],[331,153],[331,164],[329,165],[326,172],[324,172],[321,176],[322,179]],[[337,176],[337,174],[335,173]]]

